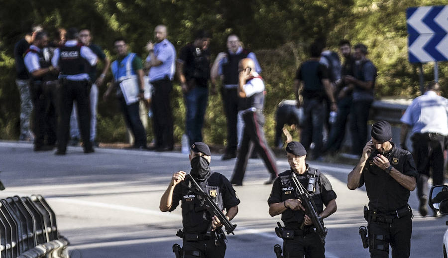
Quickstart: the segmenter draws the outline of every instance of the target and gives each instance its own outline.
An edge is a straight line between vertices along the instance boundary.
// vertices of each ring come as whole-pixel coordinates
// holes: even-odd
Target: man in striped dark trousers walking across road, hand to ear
[[[238,96],[240,103],[238,108],[243,111],[244,128],[241,147],[230,180],[233,185],[242,185],[247,160],[254,148],[270,173],[270,178],[265,183],[271,184],[278,174],[274,154],[269,148],[263,132],[264,81],[254,68],[255,64],[250,58],[244,58],[239,62]]]

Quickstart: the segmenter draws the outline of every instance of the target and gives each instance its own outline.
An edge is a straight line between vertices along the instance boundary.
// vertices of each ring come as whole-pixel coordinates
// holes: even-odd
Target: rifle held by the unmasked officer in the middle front
[[[324,222],[321,221],[318,213],[316,212],[317,208],[313,198],[311,198],[307,189],[305,189],[305,187],[299,182],[296,173],[294,172],[292,176],[292,181],[296,186],[296,191],[297,194],[299,195],[300,200],[302,201],[302,205],[305,207],[306,215],[308,215],[308,217],[311,218],[313,225],[316,227],[316,232],[319,234],[319,237],[321,237],[322,243],[325,244],[325,236],[327,236],[327,229],[324,228]],[[305,220],[302,223],[302,226],[300,227],[301,229],[303,229],[304,224]]]

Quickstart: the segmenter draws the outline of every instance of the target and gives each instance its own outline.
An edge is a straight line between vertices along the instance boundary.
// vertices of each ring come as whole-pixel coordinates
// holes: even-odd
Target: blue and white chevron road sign
[[[448,60],[448,5],[406,10],[411,63]]]

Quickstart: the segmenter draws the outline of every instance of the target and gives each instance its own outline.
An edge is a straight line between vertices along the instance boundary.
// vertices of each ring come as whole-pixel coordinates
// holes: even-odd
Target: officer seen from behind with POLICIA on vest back
[[[67,42],[54,51],[51,63],[59,67],[62,85],[58,92],[58,149],[56,155],[65,155],[70,128],[70,115],[73,102],[76,101],[83,138],[84,153],[94,152],[90,140],[90,87],[89,70],[97,63],[95,55],[89,47],[79,44],[78,30],[67,30]]]

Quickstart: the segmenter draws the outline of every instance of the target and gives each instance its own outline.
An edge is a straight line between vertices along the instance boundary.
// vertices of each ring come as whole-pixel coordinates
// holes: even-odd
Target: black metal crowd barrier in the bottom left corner
[[[68,244],[41,195],[0,200],[0,258],[69,258]]]

